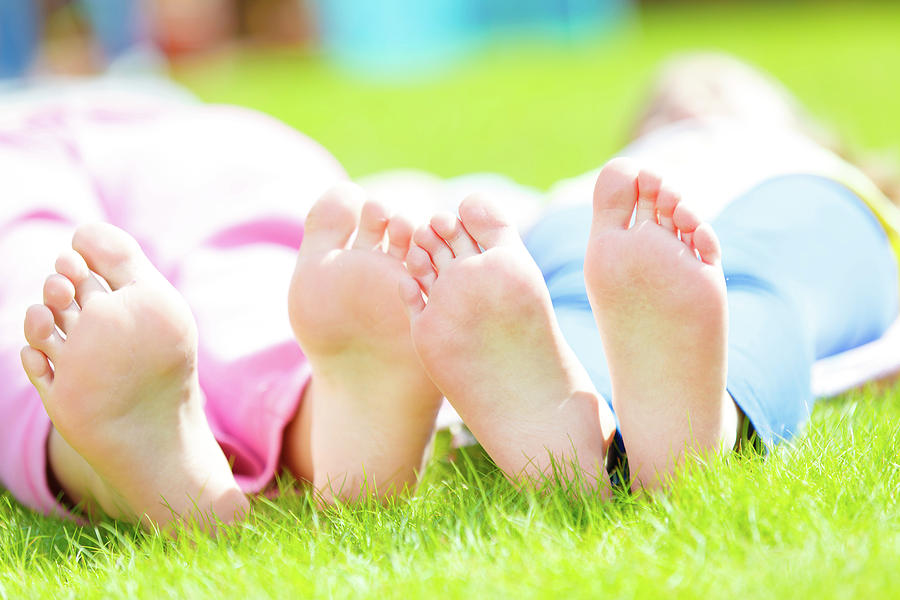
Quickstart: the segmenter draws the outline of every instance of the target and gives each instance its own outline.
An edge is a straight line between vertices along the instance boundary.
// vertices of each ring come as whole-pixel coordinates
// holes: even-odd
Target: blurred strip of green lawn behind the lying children
[[[851,144],[900,148],[900,3],[650,3],[578,43],[519,39],[413,81],[351,75],[314,51],[243,49],[176,63],[204,100],[269,113],[352,176],[492,171],[546,188],[627,140],[655,67],[723,50],[781,79]]]

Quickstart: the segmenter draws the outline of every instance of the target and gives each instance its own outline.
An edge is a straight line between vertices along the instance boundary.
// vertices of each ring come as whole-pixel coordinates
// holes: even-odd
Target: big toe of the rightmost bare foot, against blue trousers
[[[606,163],[594,186],[592,233],[626,229],[638,197],[639,169],[630,160],[614,158]]]

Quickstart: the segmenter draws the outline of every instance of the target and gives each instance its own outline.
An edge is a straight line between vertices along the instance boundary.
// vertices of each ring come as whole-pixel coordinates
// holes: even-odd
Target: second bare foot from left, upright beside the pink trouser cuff
[[[409,222],[351,184],[306,219],[289,309],[313,376],[285,460],[326,501],[413,487],[431,440],[441,393],[419,363],[397,293],[411,235]]]

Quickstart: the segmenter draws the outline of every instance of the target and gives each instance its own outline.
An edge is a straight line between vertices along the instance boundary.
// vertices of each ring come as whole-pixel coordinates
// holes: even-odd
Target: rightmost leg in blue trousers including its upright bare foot
[[[648,224],[652,231],[671,231],[672,223],[703,262],[715,266],[718,249],[711,243],[712,230],[679,210],[683,205],[676,195],[656,191],[658,187],[627,162],[604,168],[585,267],[629,464],[635,478],[651,486],[664,480],[685,450],[733,442],[732,398],[763,441],[790,437],[809,414],[812,362],[877,338],[897,312],[893,254],[883,230],[858,199],[815,177],[766,182],[734,201],[716,223],[726,240],[730,310],[729,394],[721,394],[726,352],[717,332],[725,328],[714,317],[726,311],[718,286],[701,286],[696,268],[688,272],[667,263],[671,259],[662,253],[659,235],[630,253],[621,252],[626,247],[623,233],[638,234]],[[656,199],[655,221],[652,213],[642,215],[642,203],[650,197]],[[636,205],[630,229],[629,205]],[[693,233],[685,235],[685,229]],[[823,238],[828,243],[821,243]],[[620,252],[612,262],[611,250]],[[660,265],[655,272],[647,267],[647,255]],[[696,295],[689,305],[678,304],[685,294]],[[626,302],[619,304],[619,299]],[[633,306],[642,311],[634,314]],[[703,310],[695,312],[697,307]],[[648,323],[654,326],[652,332],[642,334]],[[631,335],[616,337],[617,330]],[[650,353],[644,349],[648,346],[654,349]],[[642,373],[644,363],[661,348],[668,348],[664,361],[677,360],[656,393],[646,395],[653,388]],[[692,373],[698,356],[704,368]],[[656,368],[667,367],[662,363]],[[703,391],[703,386],[708,389]],[[659,420],[663,411],[667,417]]]

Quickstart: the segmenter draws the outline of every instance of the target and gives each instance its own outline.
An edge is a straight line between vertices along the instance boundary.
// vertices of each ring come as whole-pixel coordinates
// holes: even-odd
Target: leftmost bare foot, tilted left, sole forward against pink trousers
[[[125,232],[85,226],[72,247],[45,304],[28,309],[22,350],[55,427],[57,479],[76,501],[145,526],[232,521],[248,505],[203,413],[190,310]]]

